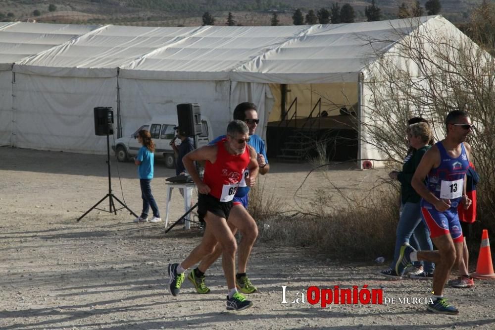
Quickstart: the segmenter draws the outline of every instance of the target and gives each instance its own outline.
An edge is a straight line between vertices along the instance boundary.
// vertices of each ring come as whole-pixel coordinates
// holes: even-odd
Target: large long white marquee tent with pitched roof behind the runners
[[[251,101],[264,136],[269,84],[353,83],[365,118],[377,46],[385,53],[424,26],[458,31],[441,16],[275,27],[0,24],[0,145],[82,153],[106,151],[94,134],[99,106],[117,110],[129,135],[178,103],[199,103],[219,135],[235,106]],[[372,49],[367,38],[388,42]],[[379,158],[366,143],[356,156]]]

